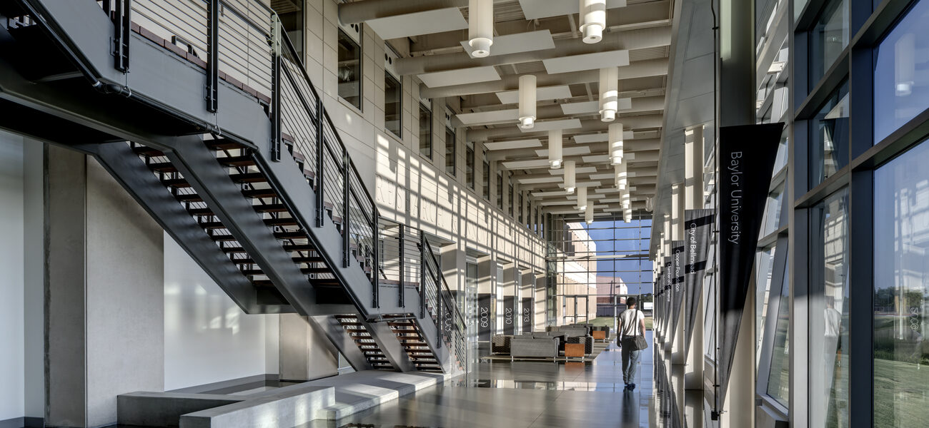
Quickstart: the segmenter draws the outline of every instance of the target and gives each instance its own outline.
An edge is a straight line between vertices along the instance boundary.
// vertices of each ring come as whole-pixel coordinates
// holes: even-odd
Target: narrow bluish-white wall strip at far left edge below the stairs
[[[0,421],[25,414],[22,145],[0,132]]]

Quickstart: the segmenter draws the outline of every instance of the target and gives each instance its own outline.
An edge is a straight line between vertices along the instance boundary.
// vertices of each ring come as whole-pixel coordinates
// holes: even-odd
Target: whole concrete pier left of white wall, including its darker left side
[[[46,152],[46,425],[116,422],[164,388],[163,233],[96,160]]]

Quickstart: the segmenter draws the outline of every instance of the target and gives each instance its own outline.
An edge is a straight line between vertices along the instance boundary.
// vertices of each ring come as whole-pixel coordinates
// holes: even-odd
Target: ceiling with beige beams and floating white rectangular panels
[[[370,5],[370,16],[376,19],[366,22],[403,53],[395,68],[419,78],[420,94],[446,97],[455,126],[466,132],[478,153],[488,150],[491,163],[510,170],[532,203],[561,209],[546,212],[582,216],[570,206],[576,196],[561,188],[564,169],[548,169],[548,131],[563,131],[563,157],[577,162],[576,181],[589,187],[588,197],[608,196],[597,199],[597,210],[621,212],[606,142],[608,126],[622,123],[623,159],[629,188],[635,189],[631,199],[641,212],[646,198],[666,180],[660,177],[659,163],[666,161],[661,151],[668,127],[665,98],[669,63],[676,59],[671,44],[679,3],[608,0],[603,40],[584,44],[577,0],[494,0],[491,56],[483,58],[471,57],[465,6],[449,8],[446,0],[354,0],[340,10]],[[389,5],[397,5],[395,12],[386,11]],[[619,68],[613,122],[603,122],[599,115],[598,70],[604,67]],[[538,83],[537,119],[531,129],[517,126],[518,78],[525,74],[535,75]]]

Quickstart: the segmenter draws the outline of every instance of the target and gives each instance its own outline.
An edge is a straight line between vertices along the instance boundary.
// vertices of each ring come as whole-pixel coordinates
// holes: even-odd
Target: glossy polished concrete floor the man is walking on
[[[468,379],[305,428],[658,426],[650,417],[656,414],[650,349],[640,364],[635,391],[626,391],[615,345],[586,362],[480,363]]]

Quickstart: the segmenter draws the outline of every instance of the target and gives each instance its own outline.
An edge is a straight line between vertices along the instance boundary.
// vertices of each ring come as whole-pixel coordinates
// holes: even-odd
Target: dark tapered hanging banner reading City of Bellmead
[[[690,351],[690,336],[697,322],[697,308],[703,298],[703,275],[706,272],[713,209],[687,209],[684,212],[684,290],[687,313],[684,318],[684,350]]]

